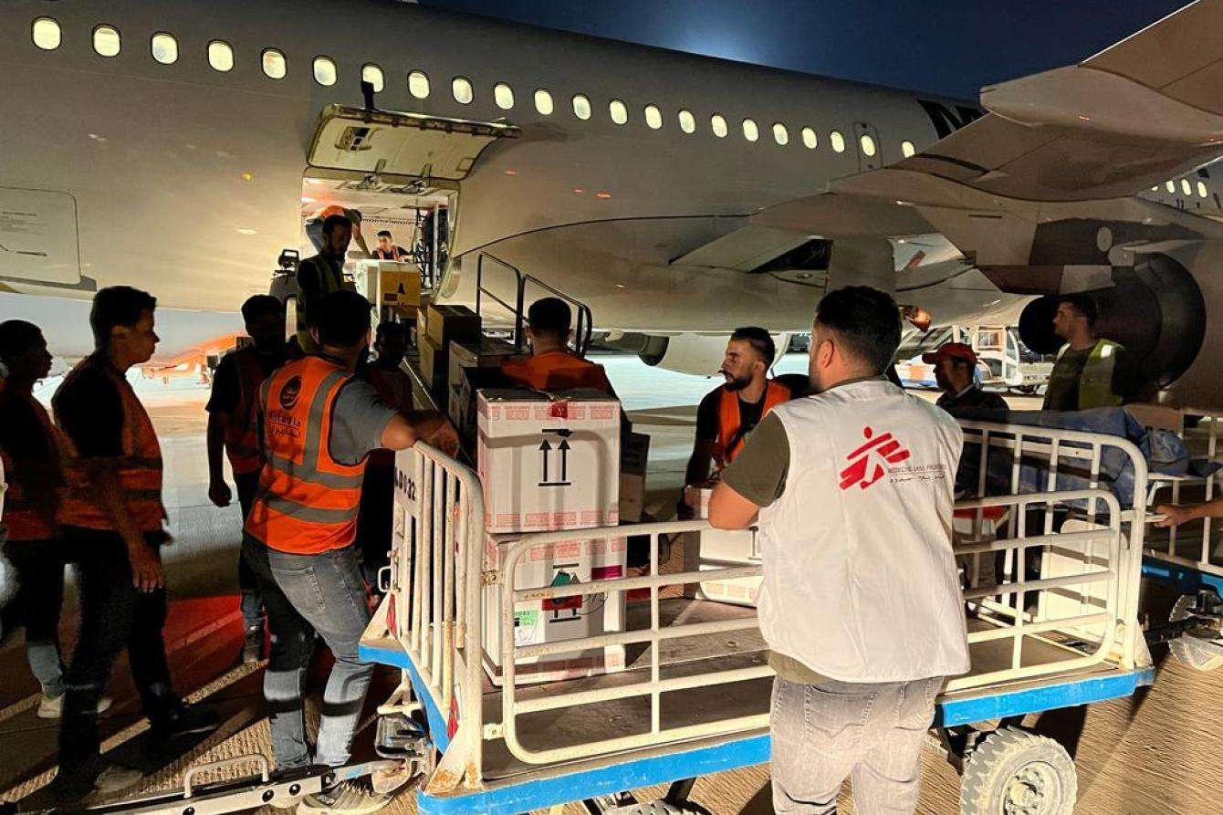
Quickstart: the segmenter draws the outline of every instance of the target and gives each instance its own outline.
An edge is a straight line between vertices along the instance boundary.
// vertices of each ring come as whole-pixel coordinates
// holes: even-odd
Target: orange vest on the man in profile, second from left
[[[64,433],[64,474],[68,487],[60,505],[60,523],[117,532],[115,521],[94,491],[94,478],[114,477],[124,491],[124,501],[136,527],[142,532],[160,531],[166,514],[161,504],[161,445],[158,444],[157,431],[132,385],[105,357],[86,357],[65,377],[64,384],[67,385],[73,377],[91,367],[104,371],[119,392],[124,408],[124,426],[120,431],[124,454],[81,459],[72,438]],[[102,469],[105,469],[105,475],[99,472]]]

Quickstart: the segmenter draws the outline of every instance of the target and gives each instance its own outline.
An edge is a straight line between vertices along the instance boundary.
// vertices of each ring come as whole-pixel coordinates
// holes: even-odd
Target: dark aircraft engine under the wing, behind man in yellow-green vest
[[[1134,354],[1161,387],[1189,371],[1202,348],[1207,328],[1206,299],[1191,274],[1168,255],[1135,257],[1132,267],[1113,267],[1112,285],[1075,285],[1074,267],[1062,279],[1062,291],[1091,295],[1099,308],[1096,332]],[[1019,335],[1037,354],[1055,354],[1062,339],[1053,334],[1057,295],[1030,302],[1019,318]]]

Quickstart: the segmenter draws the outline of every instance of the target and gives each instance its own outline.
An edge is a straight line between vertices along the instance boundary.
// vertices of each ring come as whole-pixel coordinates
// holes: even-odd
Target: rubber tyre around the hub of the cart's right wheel
[[[1055,775],[1060,794],[1040,815],[1071,815],[1079,780],[1070,754],[1053,739],[1016,727],[986,737],[969,755],[960,780],[960,815],[1007,815],[1003,798],[1011,778],[1026,765],[1041,762]]]

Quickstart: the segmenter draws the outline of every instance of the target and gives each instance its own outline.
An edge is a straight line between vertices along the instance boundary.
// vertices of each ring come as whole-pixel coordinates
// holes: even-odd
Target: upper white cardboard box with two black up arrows
[[[477,412],[487,531],[620,523],[620,403],[592,390],[479,390]]]

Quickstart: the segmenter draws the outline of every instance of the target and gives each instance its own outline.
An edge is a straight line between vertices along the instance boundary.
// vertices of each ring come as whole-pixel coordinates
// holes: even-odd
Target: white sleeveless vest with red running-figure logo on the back
[[[759,513],[769,647],[841,682],[967,672],[951,553],[960,426],[878,379],[774,412],[790,469]]]

